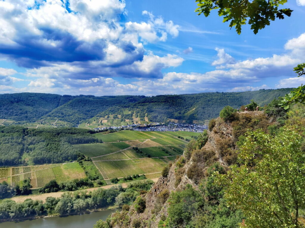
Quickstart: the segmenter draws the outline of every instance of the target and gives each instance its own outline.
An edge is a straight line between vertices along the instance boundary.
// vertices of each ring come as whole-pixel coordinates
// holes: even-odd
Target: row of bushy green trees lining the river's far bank
[[[116,202],[116,199],[123,193],[126,193],[125,196],[127,196],[129,200],[134,200],[136,196],[139,195],[140,191],[149,189],[151,185],[152,181],[135,181],[135,183],[131,184],[126,189],[119,185],[109,189],[99,188],[89,193],[87,193],[87,191],[64,193],[57,199],[54,197],[47,197],[45,203],[31,199],[27,199],[23,203],[16,203],[15,201],[5,199],[0,202],[0,219],[30,219],[35,216],[52,213],[66,215],[104,208],[113,205],[114,202]],[[143,204],[141,200],[138,200],[138,205],[140,206],[139,209],[145,209],[145,201]],[[124,207],[124,211],[128,211],[126,206]],[[110,228],[108,225],[108,220],[106,222],[99,221],[95,227]]]

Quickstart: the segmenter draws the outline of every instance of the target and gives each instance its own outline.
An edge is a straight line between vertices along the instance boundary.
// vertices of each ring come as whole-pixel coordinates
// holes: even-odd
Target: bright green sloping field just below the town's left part
[[[139,131],[129,131],[129,130],[123,130],[123,131],[118,131],[118,132],[109,133],[109,134],[96,133],[94,135],[95,135],[95,137],[97,137],[98,139],[101,139],[105,143],[152,138]]]

